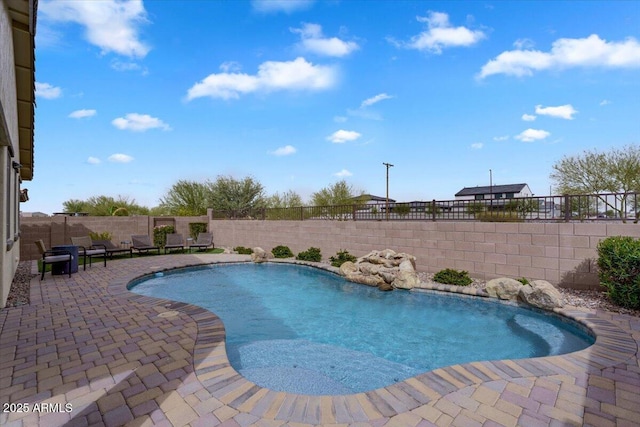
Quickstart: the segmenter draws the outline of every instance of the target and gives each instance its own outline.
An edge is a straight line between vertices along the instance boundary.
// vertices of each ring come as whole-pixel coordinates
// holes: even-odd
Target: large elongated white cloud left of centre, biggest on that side
[[[260,64],[256,75],[240,73],[210,74],[193,85],[187,100],[239,98],[241,94],[276,90],[322,90],[335,85],[337,72],[333,67],[313,65],[304,58],[293,61],[267,61]]]

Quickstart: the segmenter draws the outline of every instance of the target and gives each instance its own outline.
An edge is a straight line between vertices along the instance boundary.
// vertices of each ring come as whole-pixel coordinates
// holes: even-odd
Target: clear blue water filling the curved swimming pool
[[[220,316],[231,365],[272,390],[356,393],[443,366],[563,354],[594,341],[526,308],[381,292],[312,267],[228,264],[157,276],[131,290]]]

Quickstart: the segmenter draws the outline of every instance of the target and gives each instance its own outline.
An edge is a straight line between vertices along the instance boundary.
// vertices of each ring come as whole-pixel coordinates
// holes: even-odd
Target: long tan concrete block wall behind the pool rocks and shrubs
[[[347,249],[361,256],[393,249],[417,258],[421,271],[466,270],[472,277],[544,279],[578,289],[599,287],[597,244],[608,236],[640,238],[640,225],[622,223],[483,223],[414,221],[210,222],[216,246],[286,245],[294,253],[319,247],[327,260]]]

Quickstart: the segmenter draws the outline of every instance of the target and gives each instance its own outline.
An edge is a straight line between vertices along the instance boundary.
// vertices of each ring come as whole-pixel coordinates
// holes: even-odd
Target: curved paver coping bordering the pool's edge
[[[270,262],[307,265],[333,273],[337,270],[327,264],[303,261]],[[230,365],[224,343],[224,325],[214,313],[192,304],[134,294],[127,289],[131,281],[156,271],[219,263],[227,262],[196,262],[173,268],[131,273],[110,282],[108,292],[137,303],[153,305],[157,310],[179,311],[192,318],[197,325],[193,350],[196,377],[213,397],[239,412],[255,417],[322,425],[370,422],[409,413],[462,389],[494,381],[517,382],[532,377],[599,373],[606,368],[634,359],[638,350],[631,334],[614,323],[589,311],[564,307],[555,309],[554,312],[576,321],[591,331],[595,336],[593,345],[559,356],[452,365],[383,388],[351,395],[314,396],[273,391],[245,379]],[[474,291],[467,288],[458,289],[460,287],[448,285],[438,285],[437,288],[434,290],[474,295]]]

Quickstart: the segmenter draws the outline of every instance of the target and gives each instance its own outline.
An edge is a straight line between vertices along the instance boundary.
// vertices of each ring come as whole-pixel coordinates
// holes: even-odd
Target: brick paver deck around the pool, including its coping
[[[246,260],[155,255],[34,278],[0,311],[3,426],[632,426],[640,424],[640,318],[560,310],[595,332],[575,353],[473,362],[346,396],[276,392],[227,360],[202,308],[129,292],[158,270]]]

